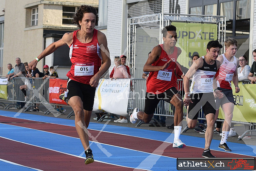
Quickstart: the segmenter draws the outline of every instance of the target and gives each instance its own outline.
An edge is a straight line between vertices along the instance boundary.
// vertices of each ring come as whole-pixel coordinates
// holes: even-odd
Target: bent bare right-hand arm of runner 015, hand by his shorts
[[[100,77],[109,69],[111,65],[108,42],[106,40],[106,36],[101,31],[98,31],[98,42],[100,46],[100,53],[102,57],[103,64],[100,67],[99,72],[97,72],[89,82],[90,86],[97,87],[99,84]]]

